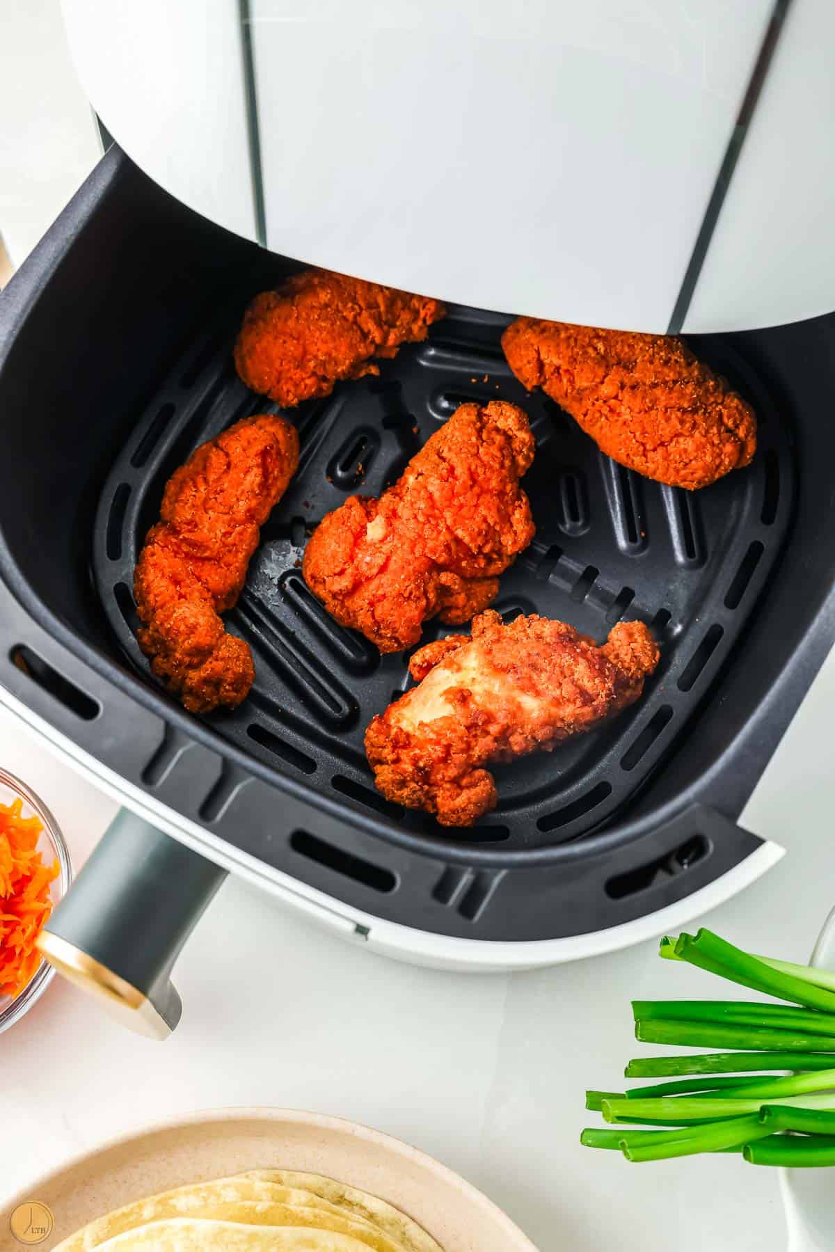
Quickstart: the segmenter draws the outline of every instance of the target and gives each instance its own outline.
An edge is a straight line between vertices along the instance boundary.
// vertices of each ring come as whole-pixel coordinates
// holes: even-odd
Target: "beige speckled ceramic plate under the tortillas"
[[[305,1169],[368,1191],[419,1222],[444,1252],[536,1252],[492,1201],[432,1157],[378,1131],[317,1113],[243,1108],[194,1113],[115,1139],[46,1174],[5,1206],[0,1248],[18,1204],[54,1216],[48,1249],[95,1217],[170,1187],[243,1169]]]

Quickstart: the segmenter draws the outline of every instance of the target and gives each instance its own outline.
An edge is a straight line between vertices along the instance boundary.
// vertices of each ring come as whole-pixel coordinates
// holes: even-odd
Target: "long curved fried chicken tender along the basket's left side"
[[[136,562],[136,632],[151,670],[192,712],[240,704],[255,676],[249,645],[224,631],[258,547],[259,527],[287,490],[298,434],[282,417],[247,417],[197,448],[172,475],[161,521]]]

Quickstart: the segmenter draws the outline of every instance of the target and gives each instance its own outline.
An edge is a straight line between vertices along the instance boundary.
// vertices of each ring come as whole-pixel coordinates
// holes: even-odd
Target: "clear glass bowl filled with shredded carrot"
[[[55,973],[35,939],[71,876],[55,818],[31,788],[0,769],[0,1032],[20,1020]]]

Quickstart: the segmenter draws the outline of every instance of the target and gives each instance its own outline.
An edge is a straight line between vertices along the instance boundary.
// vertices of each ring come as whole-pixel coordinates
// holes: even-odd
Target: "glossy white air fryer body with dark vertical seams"
[[[63,5],[125,151],[275,252],[652,332],[835,307],[831,0]]]

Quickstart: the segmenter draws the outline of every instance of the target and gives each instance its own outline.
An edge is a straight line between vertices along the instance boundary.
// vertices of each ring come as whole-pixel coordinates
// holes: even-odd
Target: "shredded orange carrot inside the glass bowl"
[[[40,964],[35,940],[53,910],[49,884],[58,861],[44,865],[39,818],[21,816],[23,800],[0,804],[0,995],[19,995]]]

